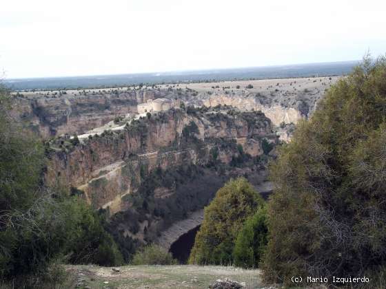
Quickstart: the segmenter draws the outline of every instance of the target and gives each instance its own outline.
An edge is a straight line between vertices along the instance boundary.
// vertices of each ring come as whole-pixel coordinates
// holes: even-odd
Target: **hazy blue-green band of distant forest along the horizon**
[[[267,78],[298,78],[312,76],[339,76],[348,74],[358,61],[311,63],[268,67],[210,69],[190,72],[163,72],[146,74],[116,74],[104,76],[70,76],[54,78],[20,78],[6,80],[14,91],[26,89],[89,89],[126,87],[132,85],[161,85],[168,83],[211,83]]]

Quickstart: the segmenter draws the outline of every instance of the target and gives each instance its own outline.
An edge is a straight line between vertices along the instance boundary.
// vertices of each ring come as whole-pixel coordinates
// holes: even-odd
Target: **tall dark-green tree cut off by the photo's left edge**
[[[41,142],[10,115],[10,94],[0,87],[0,276],[39,270],[54,254],[44,212],[50,195],[39,187]]]

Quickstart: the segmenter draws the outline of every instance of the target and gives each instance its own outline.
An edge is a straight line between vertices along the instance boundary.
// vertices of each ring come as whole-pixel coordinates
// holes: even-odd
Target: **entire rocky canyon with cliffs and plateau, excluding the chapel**
[[[201,224],[203,208],[230,178],[247,178],[266,197],[276,147],[336,81],[21,92],[12,114],[46,140],[45,182],[105,211],[128,257],[150,242],[170,249]],[[138,111],[148,96],[179,105]]]

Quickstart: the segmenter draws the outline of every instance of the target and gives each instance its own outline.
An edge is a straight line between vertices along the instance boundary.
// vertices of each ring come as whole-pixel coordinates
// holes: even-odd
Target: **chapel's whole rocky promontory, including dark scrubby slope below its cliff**
[[[185,225],[197,225],[190,213],[202,210],[230,178],[261,184],[268,158],[262,143],[277,140],[260,111],[171,109],[80,142],[51,140],[45,180],[106,209],[121,246],[159,239],[166,247],[189,231]],[[184,228],[172,226],[179,220]],[[172,233],[163,233],[167,228]]]

